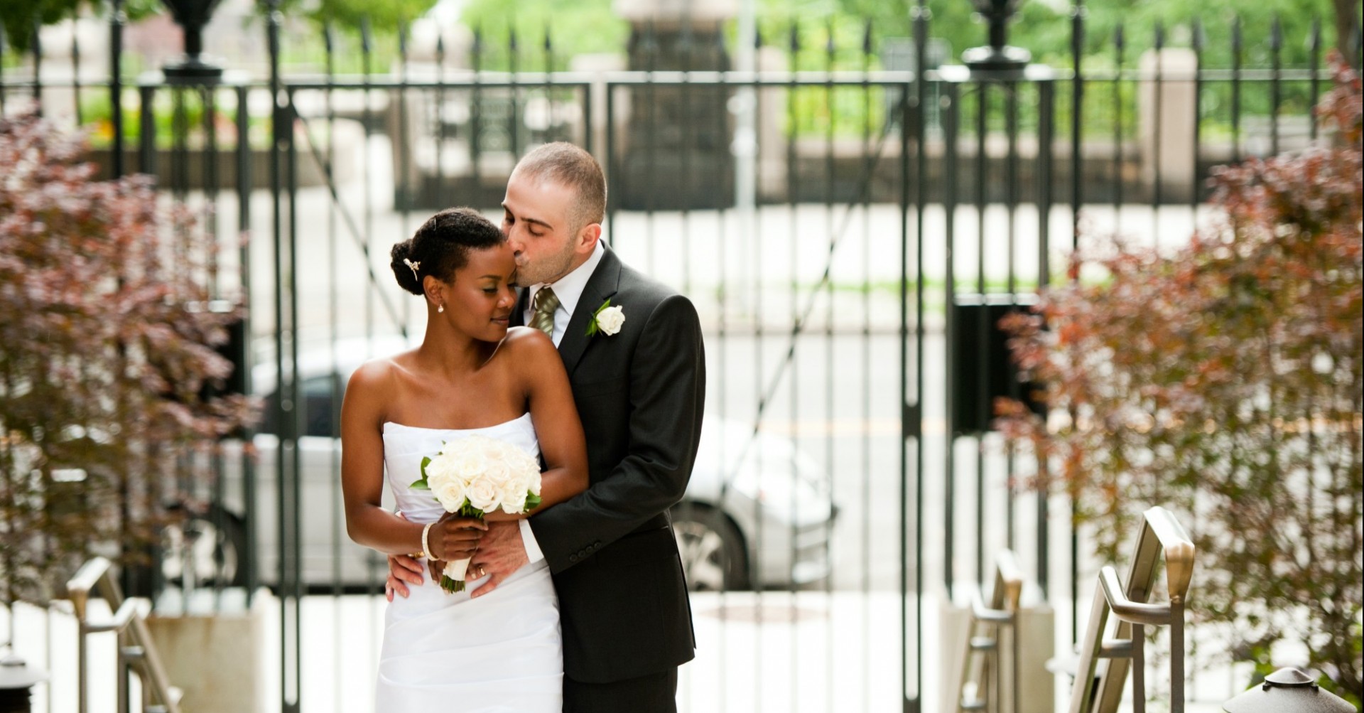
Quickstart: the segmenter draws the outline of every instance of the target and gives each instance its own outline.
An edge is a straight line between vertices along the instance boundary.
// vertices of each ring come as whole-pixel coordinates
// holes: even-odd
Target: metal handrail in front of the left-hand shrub
[[[89,710],[87,668],[89,652],[87,638],[90,634],[113,631],[119,637],[119,713],[125,713],[128,705],[128,675],[138,673],[142,679],[145,705],[160,703],[166,713],[180,713],[179,695],[166,679],[161,657],[151,641],[146,617],[151,613],[151,601],[143,597],[123,597],[119,583],[113,579],[112,563],[105,557],[94,557],[80,565],[75,576],[67,581],[67,596],[75,608],[76,623],[79,624],[79,639],[76,643],[76,710]],[[90,617],[90,594],[109,602],[113,615],[108,619],[94,620]]]

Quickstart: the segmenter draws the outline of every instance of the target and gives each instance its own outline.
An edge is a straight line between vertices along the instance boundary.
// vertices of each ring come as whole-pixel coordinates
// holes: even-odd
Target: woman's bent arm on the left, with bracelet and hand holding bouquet
[[[385,362],[370,362],[351,376],[341,402],[341,494],[346,534],[386,555],[421,550],[421,523],[408,522],[382,505],[385,403],[391,397]],[[486,526],[473,518],[442,518],[428,535],[431,559],[465,557]]]

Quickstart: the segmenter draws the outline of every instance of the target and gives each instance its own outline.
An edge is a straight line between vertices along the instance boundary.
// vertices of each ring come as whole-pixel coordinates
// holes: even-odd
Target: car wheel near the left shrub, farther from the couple
[[[240,518],[211,507],[161,530],[161,576],[166,585],[246,585],[247,530]]]

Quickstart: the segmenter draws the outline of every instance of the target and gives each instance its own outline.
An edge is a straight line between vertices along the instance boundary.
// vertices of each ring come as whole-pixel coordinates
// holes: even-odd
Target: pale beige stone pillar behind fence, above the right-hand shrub
[[[1140,71],[1138,123],[1146,197],[1157,197],[1155,182],[1159,180],[1162,204],[1187,204],[1189,191],[1195,188],[1194,167],[1198,161],[1194,149],[1198,120],[1194,115],[1194,72],[1198,71],[1198,56],[1184,48],[1147,51],[1142,53]]]

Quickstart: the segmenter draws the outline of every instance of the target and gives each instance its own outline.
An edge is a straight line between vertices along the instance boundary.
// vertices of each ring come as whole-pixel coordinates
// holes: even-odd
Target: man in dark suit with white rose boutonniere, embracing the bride
[[[701,436],[696,309],[602,242],[606,179],[585,150],[528,153],[502,208],[524,288],[512,324],[543,329],[559,348],[591,485],[520,525],[494,523],[471,564],[488,574],[473,597],[546,559],[563,628],[563,710],[677,710],[678,665],[696,642],[667,511],[686,490]],[[396,559],[389,586],[405,594],[401,581],[420,583],[420,571]]]

